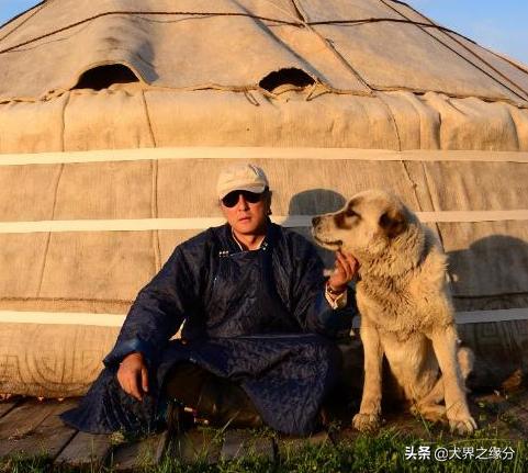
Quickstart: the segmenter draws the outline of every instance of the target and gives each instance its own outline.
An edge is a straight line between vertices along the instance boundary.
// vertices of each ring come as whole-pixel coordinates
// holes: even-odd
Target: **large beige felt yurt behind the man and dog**
[[[523,382],[526,66],[395,0],[46,0],[0,27],[0,393],[85,393],[239,160],[308,238],[398,194],[449,255],[473,384]]]

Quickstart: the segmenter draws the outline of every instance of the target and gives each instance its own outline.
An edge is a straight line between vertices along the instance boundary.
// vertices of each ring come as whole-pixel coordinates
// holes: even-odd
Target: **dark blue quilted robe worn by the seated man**
[[[338,374],[329,338],[350,329],[353,294],[333,309],[324,294],[323,262],[301,235],[268,221],[260,249],[241,251],[228,224],[179,245],[139,292],[105,369],[79,407],[63,414],[90,432],[159,428],[164,380],[191,361],[239,383],[266,424],[308,435]],[[169,340],[181,324],[182,338]],[[138,402],[119,386],[119,362],[143,353],[149,393]]]

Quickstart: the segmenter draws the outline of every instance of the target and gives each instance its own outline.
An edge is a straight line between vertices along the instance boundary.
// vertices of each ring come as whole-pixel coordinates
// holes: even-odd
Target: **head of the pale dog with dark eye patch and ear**
[[[338,212],[314,217],[312,234],[324,248],[342,249],[361,261],[381,255],[415,222],[400,199],[371,190],[356,194]]]

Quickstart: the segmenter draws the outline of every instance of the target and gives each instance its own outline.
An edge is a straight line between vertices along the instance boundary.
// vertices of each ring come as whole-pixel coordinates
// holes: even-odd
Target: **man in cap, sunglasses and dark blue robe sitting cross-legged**
[[[318,427],[348,330],[357,273],[336,254],[328,280],[315,247],[273,224],[263,171],[223,171],[226,223],[179,245],[139,292],[105,370],[63,419],[90,432],[159,428],[167,402],[212,425],[262,423],[293,435]],[[171,339],[183,324],[181,339]]]

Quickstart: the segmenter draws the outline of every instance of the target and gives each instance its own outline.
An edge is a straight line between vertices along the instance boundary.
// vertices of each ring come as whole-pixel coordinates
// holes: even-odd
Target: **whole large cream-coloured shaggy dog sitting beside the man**
[[[459,347],[446,256],[434,233],[394,195],[366,191],[340,211],[314,217],[313,235],[360,263],[364,385],[353,426],[366,431],[380,425],[384,354],[415,413],[432,421],[447,416],[452,430],[472,432],[464,381],[473,354]]]

